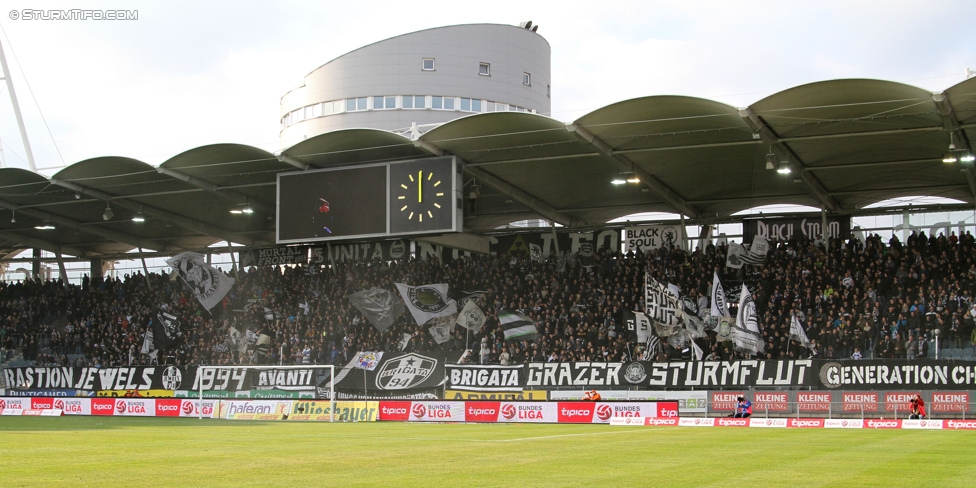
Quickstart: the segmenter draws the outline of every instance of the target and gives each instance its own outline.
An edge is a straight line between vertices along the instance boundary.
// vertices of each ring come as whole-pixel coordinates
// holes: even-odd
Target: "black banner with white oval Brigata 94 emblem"
[[[406,394],[444,384],[445,364],[456,363],[461,352],[385,353],[372,370],[349,362],[336,374],[336,391]]]

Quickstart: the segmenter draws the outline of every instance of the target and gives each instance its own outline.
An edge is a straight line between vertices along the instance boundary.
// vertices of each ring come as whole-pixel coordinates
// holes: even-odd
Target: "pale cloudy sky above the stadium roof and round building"
[[[836,78],[941,91],[976,69],[976,36],[962,26],[976,18],[971,1],[465,5],[12,0],[6,8],[18,11],[135,9],[138,20],[0,15],[0,41],[45,174],[107,155],[159,164],[219,142],[276,152],[279,98],[305,74],[362,45],[443,25],[538,24],[552,47],[552,117],[566,122],[635,97],[746,106]],[[3,165],[26,168],[5,87],[0,141]]]

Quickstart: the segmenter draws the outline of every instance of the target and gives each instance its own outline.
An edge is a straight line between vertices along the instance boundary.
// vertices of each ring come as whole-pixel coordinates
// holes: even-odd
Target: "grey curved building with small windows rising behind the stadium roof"
[[[416,139],[466,115],[549,114],[550,57],[531,22],[437,27],[361,47],[281,97],[281,148],[347,128]]]

